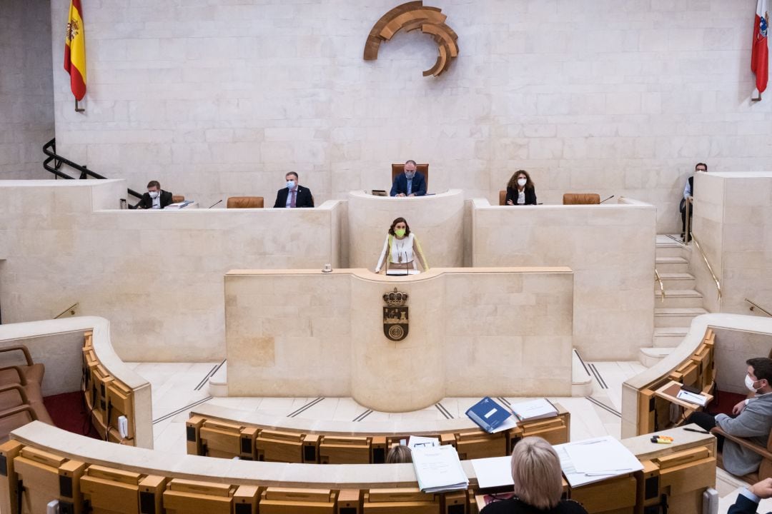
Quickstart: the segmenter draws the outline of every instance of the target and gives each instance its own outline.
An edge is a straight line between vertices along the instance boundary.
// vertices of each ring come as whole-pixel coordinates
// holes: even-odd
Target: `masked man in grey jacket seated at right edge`
[[[714,427],[736,437],[767,446],[767,439],[772,430],[772,359],[766,357],[751,358],[745,361],[748,366],[745,375],[745,387],[755,395],[740,401],[732,408],[732,416],[707,412],[695,412],[686,420],[696,423],[704,430]],[[718,436],[718,448],[723,450],[723,466],[733,475],[747,475],[759,469],[761,455],[743,448],[733,441],[726,441]]]

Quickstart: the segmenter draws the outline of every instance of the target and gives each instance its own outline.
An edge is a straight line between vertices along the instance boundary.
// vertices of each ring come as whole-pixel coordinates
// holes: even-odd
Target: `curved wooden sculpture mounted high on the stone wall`
[[[408,2],[391,9],[373,25],[367,42],[364,43],[364,60],[374,61],[378,59],[378,49],[381,41],[388,41],[394,34],[401,30],[410,32],[421,29],[424,34],[432,35],[437,42],[437,62],[435,66],[427,69],[424,76],[439,76],[449,68],[452,59],[459,55],[459,45],[456,41],[459,36],[445,25],[447,16],[436,7],[425,7],[424,2]]]

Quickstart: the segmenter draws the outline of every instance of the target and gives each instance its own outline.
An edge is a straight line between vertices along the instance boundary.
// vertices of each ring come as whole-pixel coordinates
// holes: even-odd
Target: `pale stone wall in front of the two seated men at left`
[[[79,314],[110,319],[126,361],[215,361],[225,356],[227,270],[341,263],[339,202],[117,210],[125,196],[124,180],[0,181],[4,323],[50,319],[78,302]]]

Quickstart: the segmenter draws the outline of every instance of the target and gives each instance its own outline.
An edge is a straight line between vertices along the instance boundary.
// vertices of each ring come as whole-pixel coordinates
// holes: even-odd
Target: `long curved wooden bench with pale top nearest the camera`
[[[622,441],[643,472],[566,485],[566,496],[591,513],[642,512],[663,496],[672,512],[702,512],[702,492],[716,481],[716,439],[682,428],[662,435],[675,442],[657,445],[648,435]],[[46,512],[47,502],[58,499],[65,512],[471,514],[481,493],[471,461],[462,462],[469,489],[425,494],[410,464],[208,459],[107,444],[39,422],[19,428],[12,438],[0,445],[2,512]]]

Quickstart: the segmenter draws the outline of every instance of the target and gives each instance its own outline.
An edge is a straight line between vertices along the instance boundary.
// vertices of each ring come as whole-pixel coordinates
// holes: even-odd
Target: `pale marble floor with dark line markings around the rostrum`
[[[208,392],[208,378],[220,365],[208,363],[127,363],[151,383],[153,390],[154,446],[157,450],[185,453],[185,421],[197,405],[212,405],[266,415],[293,418],[368,422],[387,419],[460,418],[479,398],[444,398],[437,404],[415,412],[393,414],[358,405],[351,398],[214,398]],[[622,382],[645,369],[632,362],[587,362],[593,375],[592,394],[586,398],[550,398],[571,412],[571,440],[612,435],[621,432]],[[529,398],[506,398],[510,402]],[[743,482],[718,470],[716,489],[721,498],[719,512],[734,502]],[[764,506],[764,503],[762,503]],[[772,506],[770,506],[772,507]],[[766,512],[766,511],[763,511]]]

